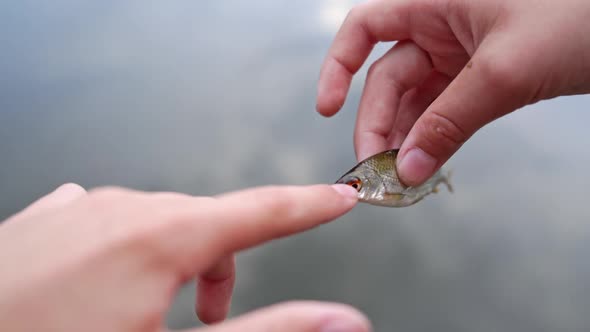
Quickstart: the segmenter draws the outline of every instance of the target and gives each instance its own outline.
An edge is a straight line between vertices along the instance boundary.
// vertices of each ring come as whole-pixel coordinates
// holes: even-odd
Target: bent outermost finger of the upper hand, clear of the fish
[[[409,38],[411,5],[416,4],[408,0],[376,0],[349,12],[320,71],[316,105],[320,114],[332,116],[340,110],[353,75],[377,42]]]

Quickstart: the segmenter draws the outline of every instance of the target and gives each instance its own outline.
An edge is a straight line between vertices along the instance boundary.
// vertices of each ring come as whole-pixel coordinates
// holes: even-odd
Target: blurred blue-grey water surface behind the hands
[[[315,113],[315,87],[352,3],[0,3],[0,219],[69,181],[198,195],[333,182],[355,162],[366,66],[335,118]],[[231,315],[318,299],[376,331],[585,330],[589,106],[557,98],[487,126],[449,162],[455,194],[359,205],[241,253]],[[198,325],[193,292],[171,327]]]

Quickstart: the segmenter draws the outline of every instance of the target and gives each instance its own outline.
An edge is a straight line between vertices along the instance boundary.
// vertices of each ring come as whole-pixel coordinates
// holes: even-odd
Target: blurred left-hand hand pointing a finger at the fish
[[[316,227],[355,202],[356,191],[342,185],[218,197],[61,186],[0,224],[0,330],[165,330],[175,293],[194,278],[199,317],[219,322],[233,289],[233,253]],[[324,329],[369,327],[346,306],[297,302],[198,331]]]

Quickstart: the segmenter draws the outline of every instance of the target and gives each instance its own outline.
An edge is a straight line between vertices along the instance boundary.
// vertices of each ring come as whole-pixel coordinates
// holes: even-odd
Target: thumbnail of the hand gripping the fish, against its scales
[[[437,163],[436,158],[422,149],[412,148],[398,164],[400,177],[407,185],[420,184],[430,177]]]

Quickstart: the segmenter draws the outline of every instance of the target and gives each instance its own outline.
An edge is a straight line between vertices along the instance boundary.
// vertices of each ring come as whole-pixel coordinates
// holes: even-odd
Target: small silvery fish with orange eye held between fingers
[[[450,172],[443,174],[441,170],[420,186],[405,186],[399,180],[395,166],[398,151],[384,151],[361,161],[336,183],[355,188],[361,202],[388,207],[416,204],[425,196],[437,193],[441,183],[447,186],[449,192],[453,192],[449,181]]]

